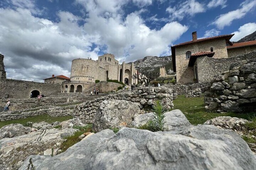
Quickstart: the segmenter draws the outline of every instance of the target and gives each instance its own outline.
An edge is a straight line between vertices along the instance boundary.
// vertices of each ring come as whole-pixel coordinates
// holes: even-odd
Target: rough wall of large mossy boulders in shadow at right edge
[[[213,79],[210,91],[205,92],[208,111],[256,111],[256,53],[252,59],[240,60],[230,70]]]

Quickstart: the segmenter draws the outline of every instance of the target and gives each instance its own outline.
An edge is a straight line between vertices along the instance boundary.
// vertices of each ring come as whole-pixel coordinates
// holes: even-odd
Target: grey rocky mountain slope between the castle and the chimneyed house
[[[143,59],[134,61],[136,68],[151,67],[156,68],[159,66],[165,66],[165,70],[173,70],[171,56],[157,57],[157,56],[146,56]]]

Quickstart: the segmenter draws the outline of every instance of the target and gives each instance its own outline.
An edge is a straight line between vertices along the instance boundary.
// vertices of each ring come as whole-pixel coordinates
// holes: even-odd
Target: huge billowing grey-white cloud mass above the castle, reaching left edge
[[[69,76],[73,59],[96,60],[103,51],[114,54],[120,62],[171,54],[169,46],[188,27],[171,22],[150,29],[140,17],[145,10],[124,17],[122,8],[128,2],[77,0],[77,4],[84,6],[85,17],[57,11],[58,22],[35,17],[27,8],[1,8],[0,44],[8,76],[26,75],[35,79],[52,74]],[[143,3],[147,5],[150,1]],[[82,26],[78,24],[80,21],[84,23]]]

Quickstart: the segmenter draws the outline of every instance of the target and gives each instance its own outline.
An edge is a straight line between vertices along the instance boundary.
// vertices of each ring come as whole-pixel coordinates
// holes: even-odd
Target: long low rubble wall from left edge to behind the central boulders
[[[127,100],[138,104],[140,109],[150,107],[154,104],[155,100],[160,100],[161,103],[168,109],[173,108],[172,100],[176,98],[173,95],[172,89],[166,87],[143,87],[135,88],[133,91],[123,91],[121,93],[114,93],[107,96],[99,97],[93,100],[88,100],[79,105],[69,105],[66,107],[38,107],[37,110],[28,111],[8,111],[0,114],[0,121],[26,118],[30,116],[37,116],[48,114],[50,116],[74,116],[83,119],[86,123],[92,123],[95,113],[104,100]]]

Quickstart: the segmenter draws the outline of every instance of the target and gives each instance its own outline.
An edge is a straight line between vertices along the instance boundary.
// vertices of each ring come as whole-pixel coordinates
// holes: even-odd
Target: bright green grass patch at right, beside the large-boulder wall
[[[233,112],[206,112],[203,97],[185,97],[184,95],[179,95],[177,99],[173,100],[173,104],[174,109],[181,110],[192,125],[203,124],[207,120],[216,118],[218,116],[231,116],[250,120],[252,116],[256,115],[256,113],[239,114]]]

